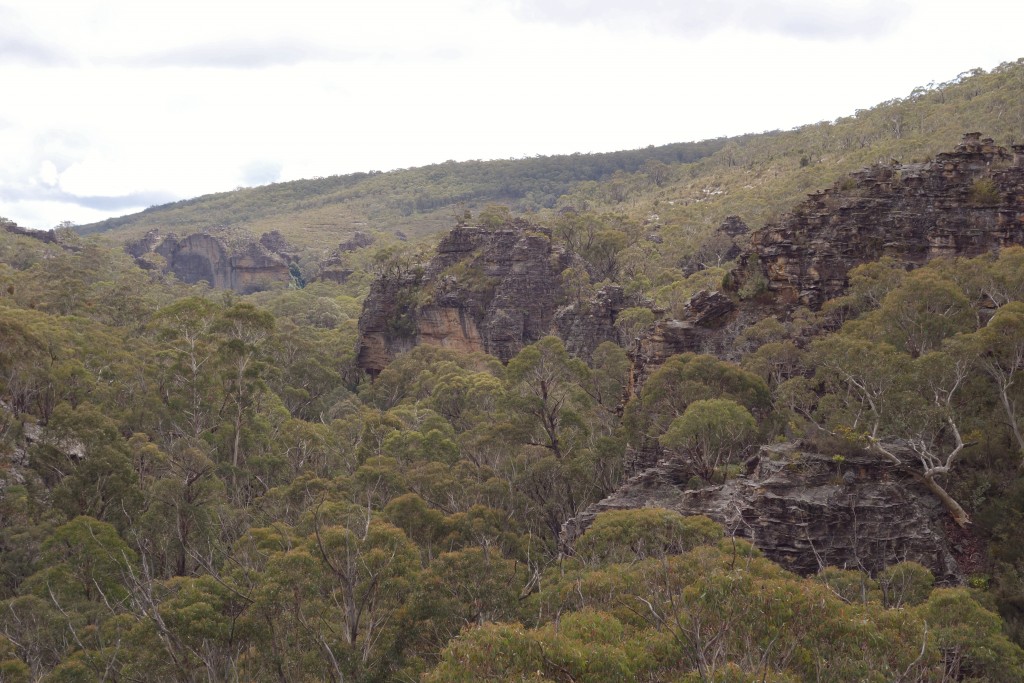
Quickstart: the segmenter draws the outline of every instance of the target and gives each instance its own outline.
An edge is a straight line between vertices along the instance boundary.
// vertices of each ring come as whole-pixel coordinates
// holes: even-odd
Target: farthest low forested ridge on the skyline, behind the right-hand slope
[[[499,161],[449,161],[421,168],[279,182],[206,195],[98,223],[82,234],[137,237],[160,228],[188,233],[244,227],[259,234],[280,230],[298,246],[321,245],[355,229],[400,229],[410,236],[451,227],[456,207],[489,203],[519,212],[552,208],[582,183],[651,172],[707,158],[735,138],[680,142],[607,154]]]

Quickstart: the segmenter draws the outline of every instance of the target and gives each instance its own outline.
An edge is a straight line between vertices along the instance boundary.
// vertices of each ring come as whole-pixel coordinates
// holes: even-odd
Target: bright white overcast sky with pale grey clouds
[[[633,150],[1024,56],[1019,0],[0,0],[0,216]]]

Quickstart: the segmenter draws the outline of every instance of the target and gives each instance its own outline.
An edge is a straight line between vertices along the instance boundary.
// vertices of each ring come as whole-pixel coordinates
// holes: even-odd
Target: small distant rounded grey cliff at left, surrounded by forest
[[[125,245],[125,251],[143,267],[153,267],[150,254],[164,258],[163,268],[183,283],[208,283],[215,289],[241,294],[259,292],[279,283],[289,283],[288,252],[275,253],[268,246],[287,249],[280,234],[264,234],[260,242],[242,240],[228,244],[206,232],[184,238],[151,231],[144,238]]]

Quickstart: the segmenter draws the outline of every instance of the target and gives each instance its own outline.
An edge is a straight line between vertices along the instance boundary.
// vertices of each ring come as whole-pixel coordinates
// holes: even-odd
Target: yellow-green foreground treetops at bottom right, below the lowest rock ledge
[[[847,600],[763,559],[737,562],[743,553],[728,545],[552,571],[537,626],[466,630],[427,680],[798,681],[825,671],[881,682],[1012,680],[1020,671],[1024,652],[989,630],[991,612],[952,608],[970,600],[966,592],[936,591],[910,608]],[[949,607],[941,617],[940,604]],[[966,623],[953,632],[962,611]]]

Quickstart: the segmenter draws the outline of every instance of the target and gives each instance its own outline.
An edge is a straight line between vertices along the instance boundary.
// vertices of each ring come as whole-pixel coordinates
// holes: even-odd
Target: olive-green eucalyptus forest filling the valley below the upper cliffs
[[[370,383],[334,286],[238,297],[71,237],[2,249],[4,680],[1024,672],[1020,249],[863,267],[818,314],[834,334],[766,318],[739,364],[678,356],[625,418],[614,344],[507,366],[422,346]],[[564,556],[561,523],[641,431],[708,481],[776,437],[927,435],[989,556],[961,587],[912,562],[801,579],[656,509],[599,516]]]

